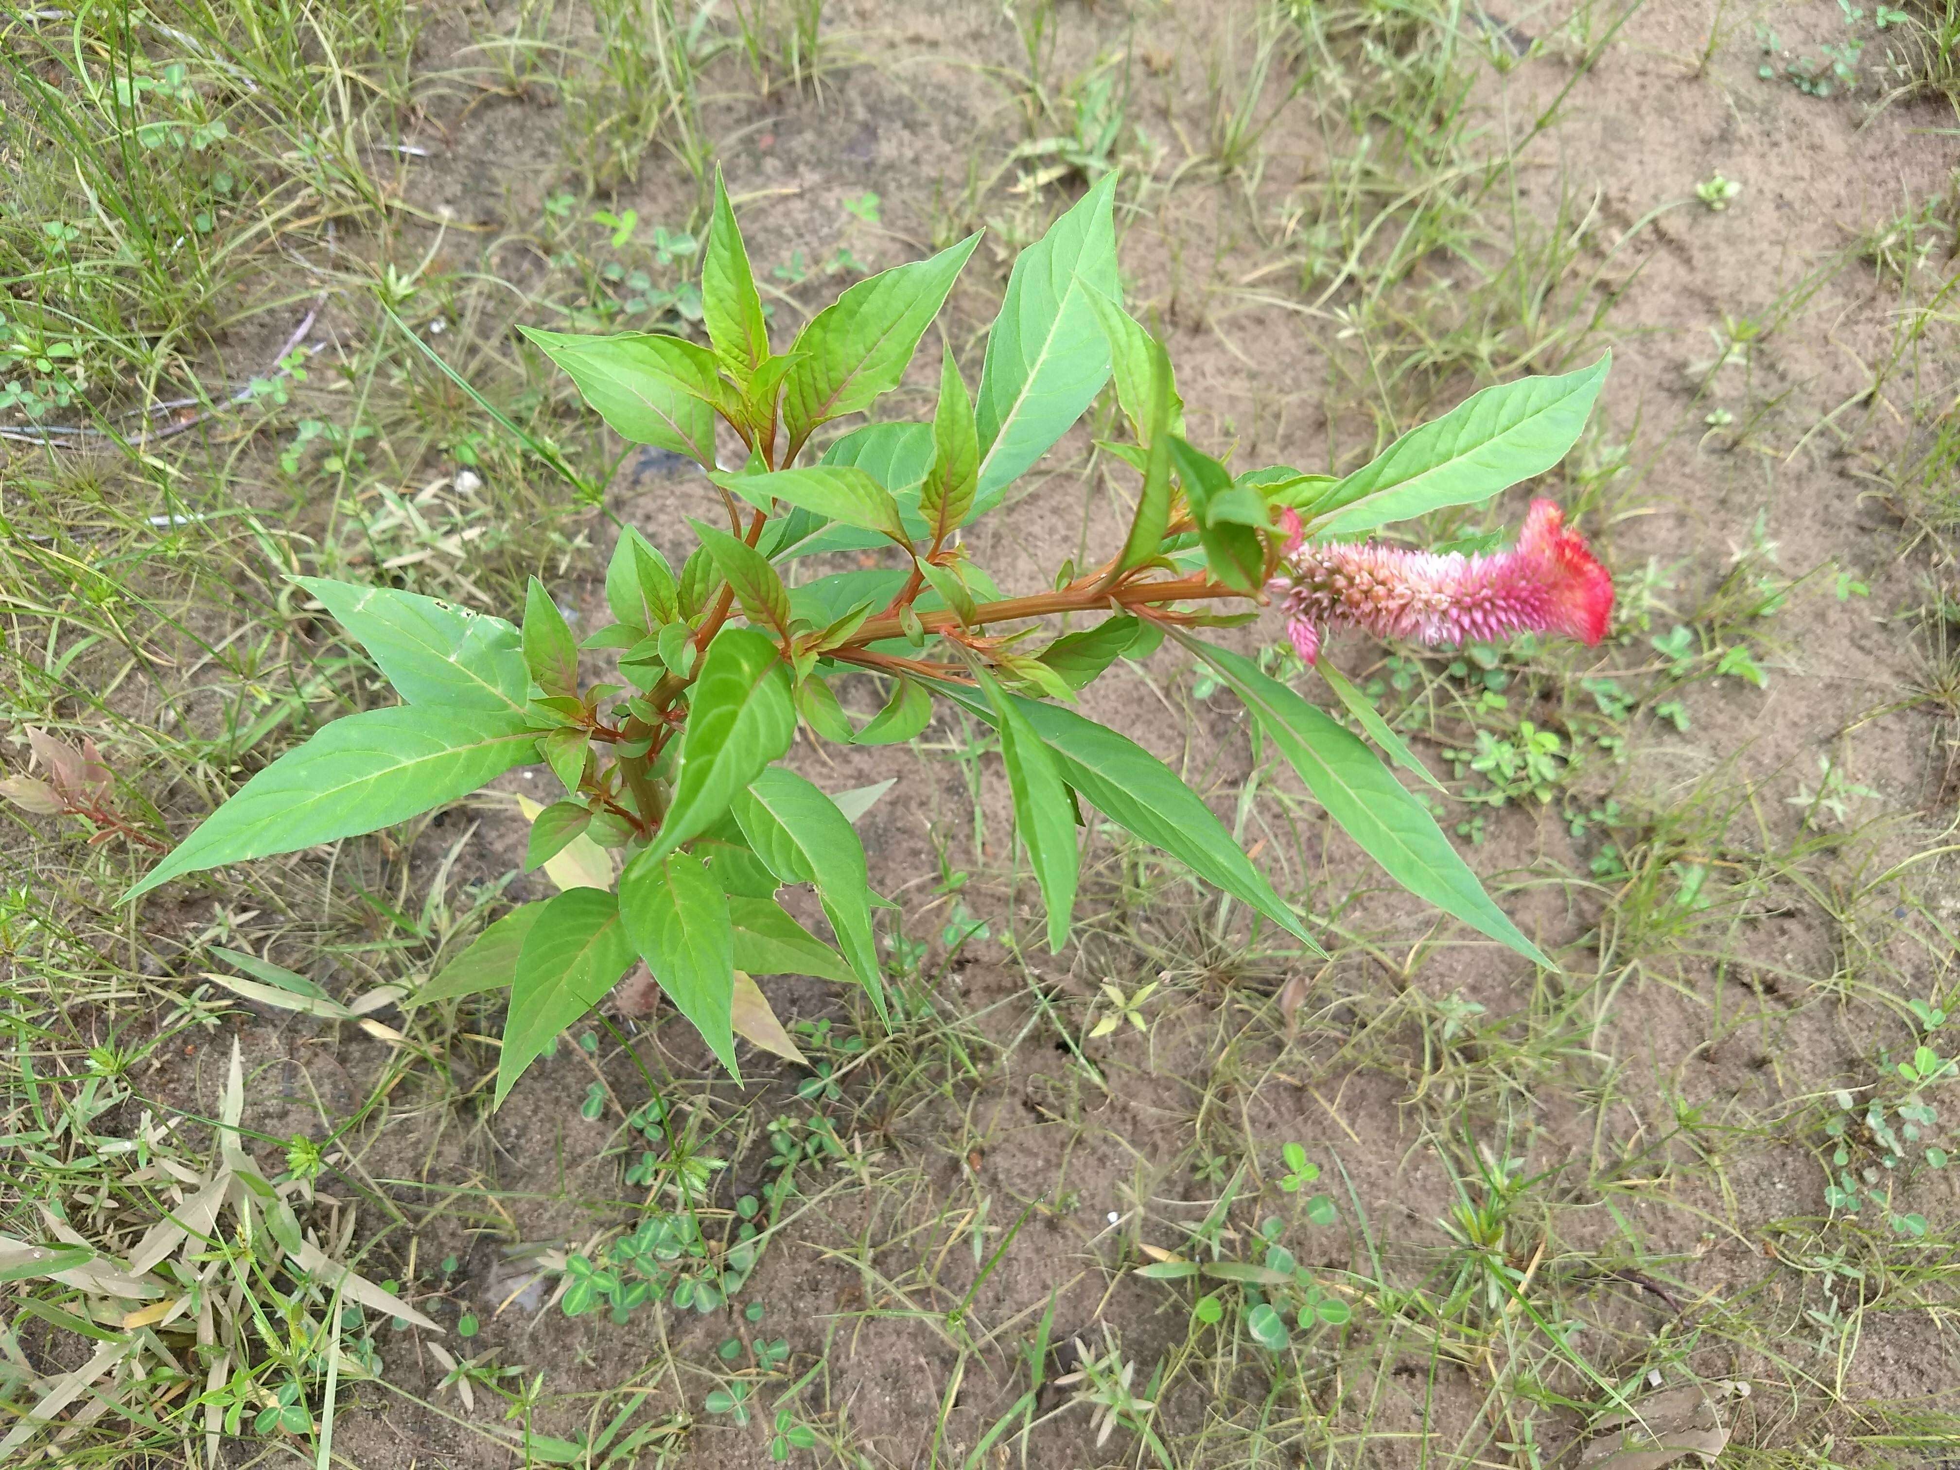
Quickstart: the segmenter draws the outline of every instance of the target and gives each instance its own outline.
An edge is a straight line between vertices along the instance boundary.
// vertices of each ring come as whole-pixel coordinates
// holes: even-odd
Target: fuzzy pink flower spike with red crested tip
[[[1288,637],[1307,662],[1331,623],[1454,647],[1525,631],[1593,645],[1613,621],[1613,578],[1550,500],[1531,502],[1509,551],[1464,557],[1380,541],[1299,547],[1270,592],[1282,598]]]

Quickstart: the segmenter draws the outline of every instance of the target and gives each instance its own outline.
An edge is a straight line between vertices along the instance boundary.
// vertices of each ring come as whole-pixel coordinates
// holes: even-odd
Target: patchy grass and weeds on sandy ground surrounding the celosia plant
[[[1952,94],[1942,16],[1907,16],[1921,100],[1893,114]],[[1654,220],[1717,216],[1684,178],[1607,223],[1543,167],[1558,123],[1494,104],[1562,57],[1541,102],[1572,80],[1586,116],[1623,12],[1460,20],[1017,4],[947,80],[904,16],[845,37],[804,0],[531,4],[468,35],[392,0],[0,12],[0,762],[22,774],[33,729],[112,772],[98,819],[0,808],[0,1235],[59,1252],[0,1243],[0,1458],[431,1452],[380,1409],[498,1464],[1548,1466],[1656,1374],[1750,1384],[1725,1464],[1950,1458],[1952,184],[1723,302],[1717,361],[1699,329],[1641,359],[1662,349],[1623,300]],[[1756,84],[1746,35],[1709,57],[1693,86],[1731,61],[1723,84]],[[966,721],[823,774],[902,780],[872,874],[894,1015],[786,984],[813,1066],[749,1088],[615,1009],[492,1113],[494,1005],[388,1004],[525,882],[494,802],[118,904],[147,843],[384,698],[290,574],[508,612],[535,572],[590,600],[613,517],[692,494],[512,327],[694,331],[708,171],[755,186],[764,131],[855,127],[853,86],[886,133],[935,86],[978,122],[955,153],[921,131],[913,172],[798,155],[802,194],[745,206],[794,221],[757,247],[788,318],[860,259],[976,223],[1023,243],[1119,167],[1133,306],[1209,353],[1194,423],[1247,459],[1345,468],[1609,343],[1693,368],[1544,488],[1613,561],[1601,651],[1329,651],[1558,972],[1396,898],[1164,653],[1127,670],[1127,719],[1327,958],[1092,813],[1082,933],[1047,955]],[[508,186],[484,214],[423,208],[449,163],[400,145],[496,129],[523,147],[486,155]],[[986,319],[970,290],[956,333]],[[1778,355],[1840,319],[1864,376],[1825,402]],[[1002,563],[1103,535],[1096,451],[1068,445]],[[1870,523],[1799,564],[1758,510],[1815,455]],[[1066,529],[1027,529],[1053,504]],[[1642,539],[1684,506],[1711,508],[1699,539]],[[1789,753],[1758,684],[1815,678],[1833,619],[1899,672]],[[327,1004],[253,1000],[237,955]],[[153,1237],[172,1215],[192,1235]],[[145,1239],[171,1249],[137,1272]],[[1194,1270],[1137,1274],[1166,1264]],[[629,1299],[662,1272],[711,1309]],[[388,1282],[441,1333],[398,1329]]]

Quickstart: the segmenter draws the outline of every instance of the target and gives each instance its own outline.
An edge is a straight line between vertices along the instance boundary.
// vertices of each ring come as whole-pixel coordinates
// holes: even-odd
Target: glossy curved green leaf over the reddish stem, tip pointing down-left
[[[721,629],[694,682],[674,804],[647,849],[651,858],[659,862],[706,831],[743,786],[790,749],[792,735],[790,670],[776,645],[745,627]]]

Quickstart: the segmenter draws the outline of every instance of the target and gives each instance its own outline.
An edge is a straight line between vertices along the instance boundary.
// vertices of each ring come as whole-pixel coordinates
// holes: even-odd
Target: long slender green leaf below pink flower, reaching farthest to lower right
[[[1327,808],[1327,815],[1341,823],[1341,829],[1380,862],[1390,878],[1478,933],[1509,945],[1533,964],[1558,968],[1490,900],[1435,817],[1360,739],[1286,684],[1258,672],[1258,664],[1250,659],[1176,629],[1172,635],[1219,672],[1288,764],[1299,772],[1313,800]]]

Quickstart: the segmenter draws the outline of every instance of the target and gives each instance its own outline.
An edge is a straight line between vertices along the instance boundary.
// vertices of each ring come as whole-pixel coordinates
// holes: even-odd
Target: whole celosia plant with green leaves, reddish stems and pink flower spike
[[[864,416],[904,378],[976,241],[860,280],[784,343],[717,186],[702,259],[708,345],[529,333],[623,439],[700,465],[708,519],[690,519],[698,545],[680,570],[627,529],[606,572],[615,621],[584,641],[535,580],[519,627],[302,578],[404,704],[337,719],[274,760],[133,892],[388,827],[545,760],[564,798],[537,813],[525,866],[545,866],[563,892],[506,913],[410,1004],[510,988],[502,1102],[643,958],[733,1072],[737,1035],[794,1053],[755,974],[862,984],[884,1011],[864,851],[839,806],[782,764],[798,727],[888,745],[923,731],[947,700],[1000,735],[1051,947],[1068,939],[1076,831],[1094,808],[1311,949],[1213,811],[1156,757],[1070,708],[1119,657],[1168,635],[1245,700],[1397,882],[1543,964],[1356,735],[1194,629],[1245,621],[1252,613],[1219,604],[1256,604],[1276,586],[1309,659],[1327,623],[1417,641],[1519,627],[1595,641],[1611,586],[1548,506],[1499,557],[1348,541],[1548,470],[1584,427],[1605,359],[1490,388],[1341,478],[1235,474],[1190,443],[1162,345],[1119,304],[1113,186],[1102,180],[1015,261],[976,394],[947,353],[931,421],[860,423],[827,443],[829,425]],[[1004,596],[964,531],[1111,378],[1129,439],[1109,451],[1137,472],[1127,535],[1094,570]],[[717,435],[739,439],[741,468],[721,468]],[[882,564],[802,574],[815,553],[878,549]],[[1045,637],[1062,613],[1100,621]],[[615,672],[592,680],[600,659]],[[847,711],[841,694],[860,692],[847,678],[880,686],[868,719]],[[778,904],[784,884],[815,888],[831,941]]]

